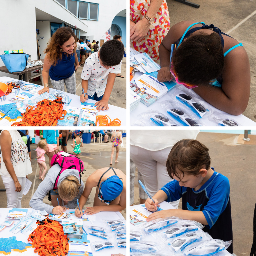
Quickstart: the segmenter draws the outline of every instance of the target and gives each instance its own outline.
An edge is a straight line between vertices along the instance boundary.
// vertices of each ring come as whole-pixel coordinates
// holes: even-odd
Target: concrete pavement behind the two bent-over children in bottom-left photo
[[[124,137],[123,140],[124,140],[124,148],[120,148],[119,150],[119,156],[118,156],[119,163],[115,164],[114,163],[115,160],[114,160],[112,167],[122,170],[126,175],[126,137]],[[71,140],[68,140],[68,145],[67,145],[68,153],[73,152],[71,143],[72,143]],[[108,142],[108,143],[95,142],[95,144],[93,144],[92,142],[91,144],[84,144],[84,147],[81,148],[80,158],[83,160],[84,169],[86,170],[86,172],[84,172],[84,174],[82,175],[82,180],[84,184],[87,178],[89,177],[89,175],[92,174],[92,172],[94,172],[99,168],[110,166],[109,163],[110,163],[110,155],[111,155],[111,146],[112,146],[111,142]],[[39,184],[42,182],[42,180],[38,179],[39,168],[35,160],[36,144],[31,144],[30,149],[31,149],[31,158],[32,158],[31,165],[32,165],[33,172],[28,175],[28,179],[32,182],[32,185],[30,190],[28,191],[28,194],[23,195],[22,197],[21,205],[23,208],[29,208],[29,201],[33,196],[34,192],[36,191],[37,187],[39,186]],[[116,153],[114,154],[114,159],[115,159],[115,156],[116,156]],[[48,172],[50,169],[48,164],[49,158],[46,155],[45,155],[45,158],[46,158],[45,163],[47,164],[47,167],[48,167],[47,172]],[[0,176],[0,189],[4,189],[4,184],[1,179],[1,176]],[[87,203],[84,205],[84,209],[86,209],[85,207],[93,206],[95,192],[96,192],[96,188],[93,188]],[[6,192],[0,192],[0,197],[1,197],[0,208],[7,207]],[[43,202],[45,204],[51,204],[51,202],[48,200],[48,196],[45,196],[45,198],[43,199]],[[126,209],[122,212],[122,214],[126,219]]]

